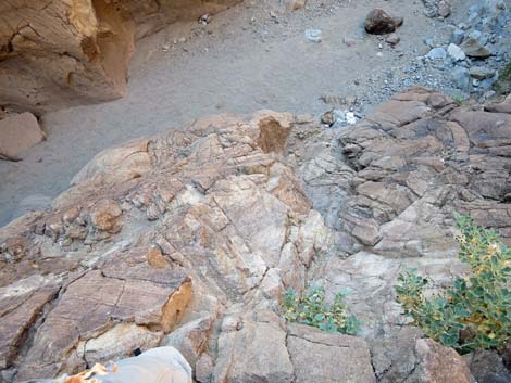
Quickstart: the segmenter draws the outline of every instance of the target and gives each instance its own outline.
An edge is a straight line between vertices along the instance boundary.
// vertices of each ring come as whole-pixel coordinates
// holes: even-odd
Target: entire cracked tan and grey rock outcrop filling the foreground
[[[172,345],[200,382],[414,382],[448,357],[470,379],[417,341],[394,285],[465,271],[453,212],[511,241],[510,126],[412,88],[350,127],[223,115],[102,152],[51,212],[0,230],[2,376]],[[286,324],[283,290],[307,282],[350,290],[363,339]]]

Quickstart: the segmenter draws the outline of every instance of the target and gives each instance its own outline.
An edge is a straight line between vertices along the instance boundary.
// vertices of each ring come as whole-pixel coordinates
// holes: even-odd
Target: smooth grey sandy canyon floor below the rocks
[[[404,17],[396,48],[364,33],[374,7]],[[449,23],[468,7],[456,1]],[[51,201],[99,151],[202,116],[272,108],[319,118],[329,100],[357,97],[362,117],[407,86],[452,93],[413,64],[429,50],[423,40],[448,40],[449,23],[426,17],[421,1],[313,0],[292,13],[247,1],[207,26],[172,25],[138,42],[125,98],[42,115],[48,140],[22,162],[0,162],[0,225],[23,212],[26,197]],[[306,39],[308,28],[322,30],[321,43]]]

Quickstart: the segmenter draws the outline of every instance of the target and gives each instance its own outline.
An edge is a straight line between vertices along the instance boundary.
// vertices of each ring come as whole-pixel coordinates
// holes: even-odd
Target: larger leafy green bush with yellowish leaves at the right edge
[[[427,336],[461,354],[502,346],[511,339],[511,251],[494,230],[456,218],[458,258],[470,265],[469,276],[426,298],[428,280],[408,270],[398,278],[397,301]]]

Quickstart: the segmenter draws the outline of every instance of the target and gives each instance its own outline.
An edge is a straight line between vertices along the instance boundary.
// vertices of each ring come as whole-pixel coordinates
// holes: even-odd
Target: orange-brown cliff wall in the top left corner
[[[0,3],[0,105],[41,112],[126,92],[135,41],[237,0],[5,0]]]

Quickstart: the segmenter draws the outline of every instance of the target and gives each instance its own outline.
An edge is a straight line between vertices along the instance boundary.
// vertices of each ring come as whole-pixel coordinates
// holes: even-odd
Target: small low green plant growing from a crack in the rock
[[[290,322],[308,324],[328,332],[340,332],[354,335],[361,322],[349,315],[344,303],[346,294],[338,293],[334,303],[326,303],[323,288],[308,289],[302,295],[288,290],[284,295],[284,318]]]

